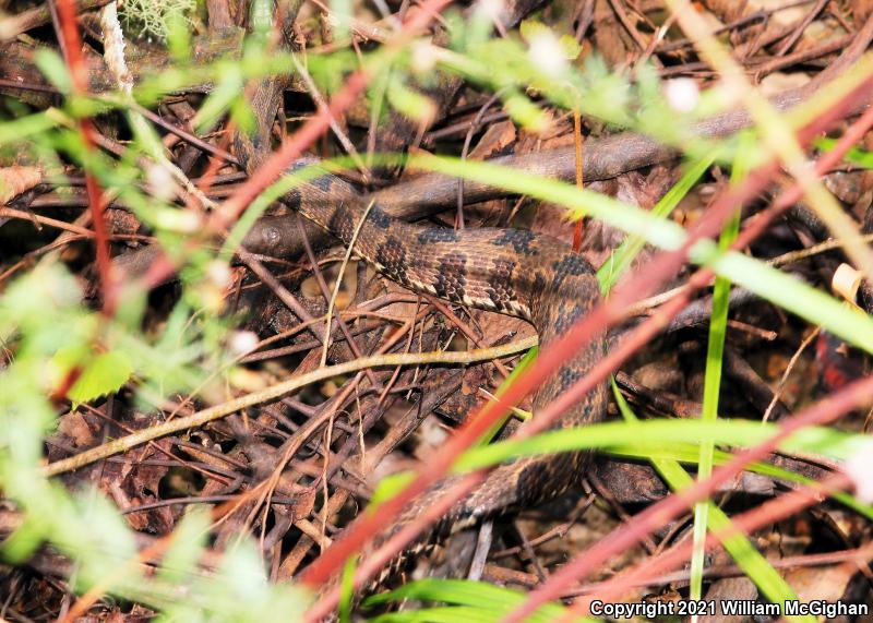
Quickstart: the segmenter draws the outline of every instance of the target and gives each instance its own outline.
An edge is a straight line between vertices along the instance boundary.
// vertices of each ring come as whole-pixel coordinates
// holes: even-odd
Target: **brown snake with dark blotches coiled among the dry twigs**
[[[250,172],[270,153],[270,129],[280,88],[275,80],[259,85],[249,98],[259,121],[258,131],[252,135],[238,132],[235,136],[237,155]],[[303,158],[294,169],[313,163],[314,158]],[[348,182],[325,171],[282,201],[344,244],[351,244],[354,239],[357,255],[403,287],[452,303],[525,319],[536,328],[543,347],[561,337],[599,300],[591,265],[560,240],[525,229],[455,230],[414,225],[393,218],[379,205],[370,205],[362,194],[348,199],[355,195]],[[282,238],[272,227],[259,228],[258,235],[262,239],[251,242],[260,249],[268,249],[271,239]],[[543,383],[533,398],[534,417],[599,361],[605,348],[605,337],[598,336]],[[555,427],[598,421],[606,412],[607,402],[607,387],[600,384],[566,411]],[[587,458],[587,453],[576,452],[501,465],[452,508],[446,523],[471,522],[560,495],[579,481]],[[419,496],[380,540],[418,516],[450,484],[451,479],[438,482]]]

